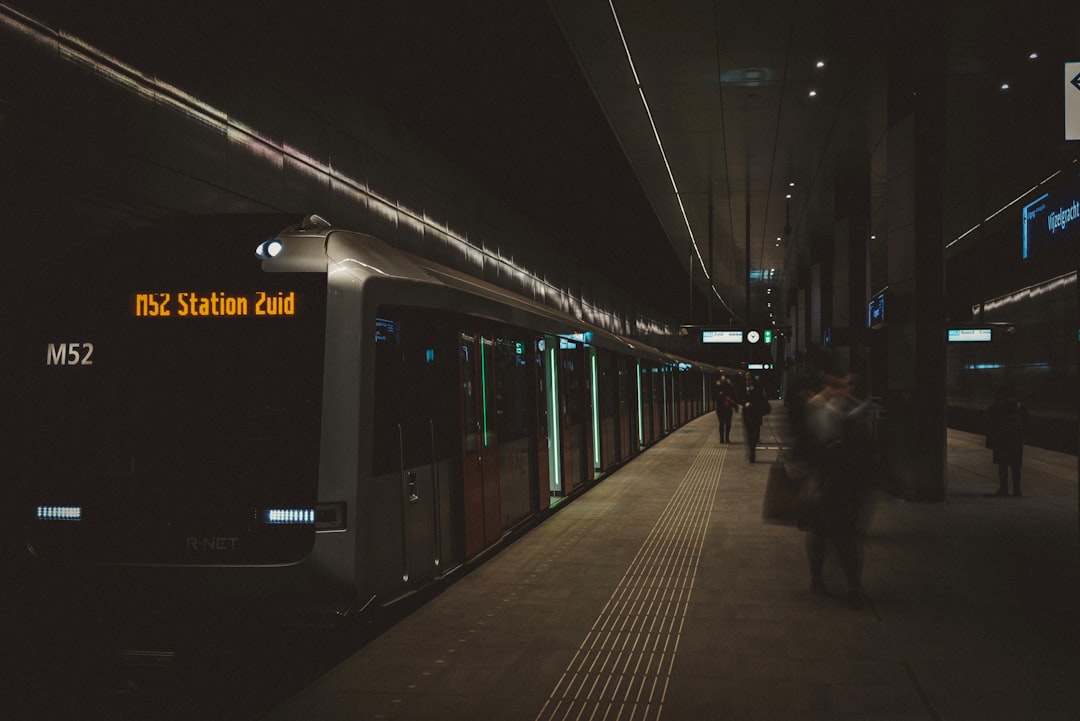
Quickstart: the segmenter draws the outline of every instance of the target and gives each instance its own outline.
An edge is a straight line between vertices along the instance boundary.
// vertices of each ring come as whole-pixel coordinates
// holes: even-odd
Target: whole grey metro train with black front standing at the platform
[[[118,604],[339,623],[710,409],[719,368],[281,222],[122,227],[24,278],[0,461],[21,563]]]

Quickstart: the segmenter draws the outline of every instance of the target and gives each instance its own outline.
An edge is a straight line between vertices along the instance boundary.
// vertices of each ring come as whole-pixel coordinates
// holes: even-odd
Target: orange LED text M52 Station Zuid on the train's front
[[[135,317],[248,317],[296,315],[296,291],[230,296],[214,293],[137,293],[134,298]]]

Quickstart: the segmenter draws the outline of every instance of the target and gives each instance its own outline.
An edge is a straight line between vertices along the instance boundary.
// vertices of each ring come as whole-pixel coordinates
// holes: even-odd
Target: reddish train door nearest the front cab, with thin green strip
[[[494,425],[491,381],[494,341],[480,332],[460,334],[462,490],[465,556],[472,557],[500,535],[499,446]]]

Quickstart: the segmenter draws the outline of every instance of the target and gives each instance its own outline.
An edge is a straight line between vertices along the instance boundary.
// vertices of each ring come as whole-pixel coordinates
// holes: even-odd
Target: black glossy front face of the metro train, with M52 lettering
[[[9,440],[38,556],[232,564],[310,552],[326,275],[261,270],[255,248],[282,227],[112,233],[21,291]]]

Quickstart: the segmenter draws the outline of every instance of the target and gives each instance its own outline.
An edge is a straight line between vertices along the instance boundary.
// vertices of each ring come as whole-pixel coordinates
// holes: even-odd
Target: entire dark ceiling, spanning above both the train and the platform
[[[869,166],[885,137],[887,81],[895,96],[905,58],[935,44],[943,242],[1078,154],[1061,120],[1075,2],[13,2],[148,68],[224,56],[370,98],[680,322],[741,321],[747,270],[779,285],[833,233],[837,173]],[[876,226],[883,179],[867,177]]]

